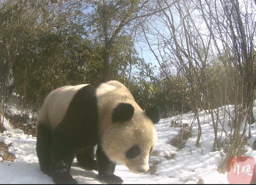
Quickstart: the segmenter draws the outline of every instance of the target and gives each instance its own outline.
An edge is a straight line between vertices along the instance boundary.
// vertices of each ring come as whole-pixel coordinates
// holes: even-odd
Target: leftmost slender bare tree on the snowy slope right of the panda
[[[160,1],[158,1],[158,5],[164,13],[161,22],[166,29],[164,32],[155,30],[158,34],[158,47],[160,47],[158,54],[160,58],[168,58],[168,61],[175,63],[175,66],[182,71],[189,82],[191,91],[190,107],[194,111],[198,122],[198,138],[196,141],[198,147],[202,134],[198,109],[202,108],[200,103],[202,98],[207,99],[208,95],[206,62],[209,55],[211,35],[202,35],[203,28],[196,22],[196,14],[193,13],[197,8],[194,3],[164,0],[164,5]],[[168,9],[164,10],[163,6],[167,6]],[[148,44],[150,45],[149,42]],[[154,53],[152,49],[151,51]],[[199,91],[199,86],[201,91]],[[201,94],[204,96],[201,97]],[[205,101],[203,100],[203,102]]]

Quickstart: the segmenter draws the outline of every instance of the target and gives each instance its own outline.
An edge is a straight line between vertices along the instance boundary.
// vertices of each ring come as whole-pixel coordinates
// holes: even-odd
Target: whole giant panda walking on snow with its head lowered
[[[118,162],[133,173],[148,171],[157,141],[154,124],[159,119],[157,106],[143,111],[118,81],[53,90],[36,124],[40,168],[55,183],[77,183],[70,175],[76,156],[84,169],[98,170],[98,179],[122,183],[114,175]]]

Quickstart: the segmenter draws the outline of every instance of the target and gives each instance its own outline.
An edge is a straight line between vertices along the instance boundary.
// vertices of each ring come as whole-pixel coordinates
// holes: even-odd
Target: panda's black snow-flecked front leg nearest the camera
[[[56,184],[77,184],[70,175],[70,168],[75,156],[74,143],[60,135],[53,135],[52,163],[50,172]]]

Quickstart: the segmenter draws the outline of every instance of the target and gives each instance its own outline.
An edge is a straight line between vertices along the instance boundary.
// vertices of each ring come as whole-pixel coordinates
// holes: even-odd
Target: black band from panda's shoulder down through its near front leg
[[[78,90],[63,121],[53,131],[50,170],[55,183],[63,183],[64,177],[66,183],[75,183],[70,175],[70,167],[76,151],[98,143],[97,87],[98,85],[88,85]]]

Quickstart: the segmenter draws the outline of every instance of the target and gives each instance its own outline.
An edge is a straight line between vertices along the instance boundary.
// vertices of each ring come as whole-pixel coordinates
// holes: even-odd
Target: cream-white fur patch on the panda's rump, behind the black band
[[[89,84],[64,86],[50,92],[39,111],[37,124],[47,124],[54,129],[62,121],[68,106],[78,90]]]

